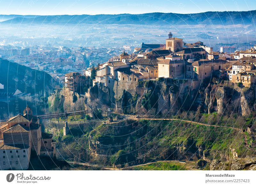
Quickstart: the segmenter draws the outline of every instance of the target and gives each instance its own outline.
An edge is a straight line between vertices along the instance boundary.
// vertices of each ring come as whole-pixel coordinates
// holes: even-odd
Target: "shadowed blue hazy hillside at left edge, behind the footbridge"
[[[45,112],[47,97],[59,86],[50,74],[8,60],[0,60],[0,72],[0,83],[4,85],[4,89],[0,89],[1,119],[22,112],[27,104],[35,114]],[[24,95],[13,97],[16,90]]]

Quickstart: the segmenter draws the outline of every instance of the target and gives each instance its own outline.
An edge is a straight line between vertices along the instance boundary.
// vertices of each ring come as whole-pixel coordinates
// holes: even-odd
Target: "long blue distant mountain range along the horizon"
[[[10,18],[0,24],[140,24],[140,25],[254,25],[256,10],[247,12],[204,12],[194,14],[145,13],[116,15],[53,15],[53,16],[20,16],[0,15]],[[3,19],[4,20],[4,19]]]

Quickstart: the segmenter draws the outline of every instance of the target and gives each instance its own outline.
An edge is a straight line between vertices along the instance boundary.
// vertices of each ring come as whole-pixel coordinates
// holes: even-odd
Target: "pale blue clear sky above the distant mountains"
[[[250,11],[256,0],[0,0],[0,14],[81,15]]]

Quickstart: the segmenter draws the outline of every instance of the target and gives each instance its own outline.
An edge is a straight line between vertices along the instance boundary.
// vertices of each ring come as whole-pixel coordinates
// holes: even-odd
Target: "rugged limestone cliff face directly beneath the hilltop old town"
[[[111,107],[126,114],[173,114],[177,111],[236,111],[243,116],[254,110],[255,88],[233,84],[209,84],[200,81],[157,79],[140,82],[116,81],[113,89],[90,89],[92,106]],[[238,104],[237,104],[238,103]]]

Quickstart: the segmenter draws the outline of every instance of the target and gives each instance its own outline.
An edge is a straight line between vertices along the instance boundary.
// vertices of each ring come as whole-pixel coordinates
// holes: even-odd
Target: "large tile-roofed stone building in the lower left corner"
[[[0,126],[0,169],[26,170],[29,166],[31,151],[38,155],[55,156],[55,142],[52,135],[41,131],[41,124],[26,111]],[[45,143],[47,141],[47,144]]]

